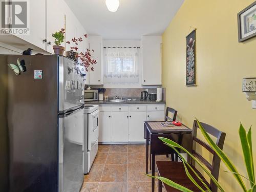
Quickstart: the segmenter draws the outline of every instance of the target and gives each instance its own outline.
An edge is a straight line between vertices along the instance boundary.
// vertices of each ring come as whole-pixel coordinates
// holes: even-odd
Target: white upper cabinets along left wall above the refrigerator
[[[13,35],[10,41],[1,39],[5,44],[10,45],[12,42],[17,42],[17,45],[12,45],[18,49],[33,48],[35,52],[54,54],[52,46],[54,46],[54,38],[52,34],[65,28],[66,16],[66,39],[71,41],[72,38],[83,37],[86,30],[83,28],[74,13],[68,7],[64,0],[28,0],[29,1],[29,35]],[[16,38],[19,37],[19,38]],[[70,50],[70,46],[66,42],[61,46],[66,47],[66,51]],[[83,38],[83,41],[78,46],[78,52],[86,51],[88,40]],[[22,48],[20,48],[22,47]],[[39,48],[39,49],[38,49]],[[47,53],[46,53],[47,54]]]

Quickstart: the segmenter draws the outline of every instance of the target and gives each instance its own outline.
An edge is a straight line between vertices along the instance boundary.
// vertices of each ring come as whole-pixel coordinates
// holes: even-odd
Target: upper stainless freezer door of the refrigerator
[[[84,67],[59,56],[59,111],[65,111],[84,103]]]

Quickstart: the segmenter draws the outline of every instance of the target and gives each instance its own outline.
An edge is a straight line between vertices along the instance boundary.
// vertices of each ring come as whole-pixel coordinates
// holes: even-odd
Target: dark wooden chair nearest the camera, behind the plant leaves
[[[206,124],[206,123],[202,123],[202,125],[203,125],[205,131],[208,134],[217,138],[216,144],[222,150],[226,134],[217,130],[213,126]],[[202,162],[210,170],[210,173],[212,174],[212,176],[214,176],[215,179],[218,180],[221,160],[220,160],[219,156],[214,152],[214,150],[212,150],[212,148],[207,143],[205,143],[204,141],[197,138],[197,130],[198,129],[199,129],[198,123],[197,123],[197,121],[194,121],[192,138],[190,139],[190,141],[188,141],[188,142],[191,142],[191,147],[189,148],[188,151],[191,154],[193,154],[194,157],[196,157],[200,162]],[[209,153],[211,153],[213,155],[211,163],[209,163],[203,156],[201,156],[196,151],[196,145],[197,144],[200,144]],[[210,183],[208,183],[204,179],[202,174],[199,172],[199,170],[195,168],[195,160],[193,160],[191,158],[188,158],[187,162],[194,168],[194,170],[196,170],[198,175],[201,176],[203,181],[208,185],[208,187],[211,189],[212,192],[217,192],[218,191],[218,187],[215,185],[215,183],[212,182],[212,180],[210,181]],[[190,179],[187,177],[182,162],[157,161],[156,164],[157,164],[158,174],[159,174],[160,177],[165,177],[167,179],[170,179],[170,180],[172,180],[172,181],[174,181],[174,182],[176,182],[176,183],[178,183],[182,186],[185,186],[185,187],[189,188],[192,191],[200,191],[198,189],[198,187],[193,182],[191,182]],[[195,174],[193,172],[189,171],[189,173],[193,176],[193,178],[197,181],[197,183],[202,188],[206,189],[205,186],[202,184],[202,182],[195,176]],[[162,187],[163,187],[162,182],[159,180],[158,184],[159,184],[158,191],[161,192]],[[173,187],[170,187],[166,184],[164,184],[164,187],[167,191],[172,191],[172,192],[173,191],[180,191],[180,190],[175,189]]]

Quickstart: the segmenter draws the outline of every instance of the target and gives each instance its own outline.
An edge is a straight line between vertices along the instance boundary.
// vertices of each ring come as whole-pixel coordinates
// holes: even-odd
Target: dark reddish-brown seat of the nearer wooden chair
[[[157,170],[160,177],[167,178],[169,180],[174,181],[175,183],[178,183],[192,191],[201,191],[190,179],[187,177],[185,168],[182,162],[172,162],[172,161],[157,161]],[[191,167],[194,168],[194,170],[197,172],[197,174],[203,179],[203,181],[209,186],[209,183],[204,179],[202,174],[199,173],[199,171],[191,165]],[[195,179],[195,181],[206,190],[206,187],[203,185],[203,183],[197,178],[197,176],[190,170],[189,167],[187,167],[189,170],[190,175]],[[164,183],[164,187],[167,191],[177,191],[180,190],[170,187],[169,185]]]

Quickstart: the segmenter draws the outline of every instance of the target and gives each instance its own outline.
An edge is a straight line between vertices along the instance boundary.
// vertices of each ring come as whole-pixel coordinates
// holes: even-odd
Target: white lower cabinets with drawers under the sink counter
[[[100,105],[99,142],[144,143],[144,121],[163,121],[164,104]]]

